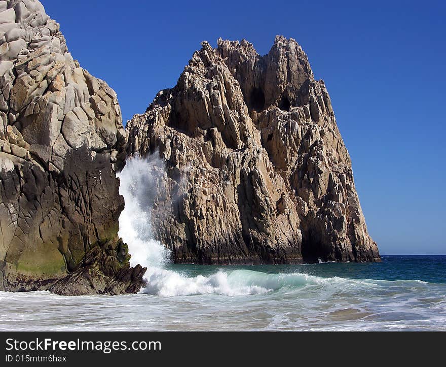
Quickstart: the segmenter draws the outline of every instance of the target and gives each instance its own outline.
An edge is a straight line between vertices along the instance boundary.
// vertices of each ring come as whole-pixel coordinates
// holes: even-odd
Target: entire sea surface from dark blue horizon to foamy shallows
[[[446,256],[166,265],[141,294],[0,292],[0,330],[446,330]]]

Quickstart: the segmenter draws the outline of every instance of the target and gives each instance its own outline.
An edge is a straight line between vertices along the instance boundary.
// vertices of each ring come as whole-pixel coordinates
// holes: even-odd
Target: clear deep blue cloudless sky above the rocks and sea
[[[202,40],[260,54],[294,38],[324,79],[382,254],[446,254],[446,5],[417,1],[42,0],[124,120],[172,87]]]

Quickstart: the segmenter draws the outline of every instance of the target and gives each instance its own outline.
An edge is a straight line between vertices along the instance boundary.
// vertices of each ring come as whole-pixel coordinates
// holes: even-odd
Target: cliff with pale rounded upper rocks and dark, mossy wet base
[[[119,239],[116,93],[80,68],[33,0],[0,1],[0,290],[136,292]]]

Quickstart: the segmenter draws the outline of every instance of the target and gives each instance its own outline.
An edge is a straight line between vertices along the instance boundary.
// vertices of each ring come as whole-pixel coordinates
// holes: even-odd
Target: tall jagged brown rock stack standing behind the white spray
[[[323,81],[293,40],[218,40],[126,127],[157,153],[154,230],[176,262],[378,261]]]

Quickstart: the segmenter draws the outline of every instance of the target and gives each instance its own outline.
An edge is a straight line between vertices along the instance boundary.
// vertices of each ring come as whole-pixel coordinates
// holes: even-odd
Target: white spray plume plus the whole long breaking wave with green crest
[[[384,291],[392,288],[410,291],[424,283],[415,280],[354,280],[339,277],[317,277],[302,273],[262,273],[251,270],[216,271],[204,276],[187,276],[165,269],[169,263],[169,251],[154,239],[150,208],[157,182],[157,172],[163,163],[156,158],[127,161],[119,173],[120,193],[125,198],[125,209],[119,218],[119,235],[129,246],[131,265],[147,267],[144,276],[146,286],[140,293],[160,296],[184,296],[194,294],[249,295],[277,291],[345,292],[352,294]]]

